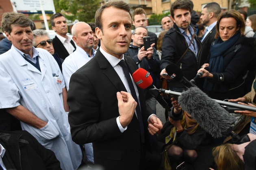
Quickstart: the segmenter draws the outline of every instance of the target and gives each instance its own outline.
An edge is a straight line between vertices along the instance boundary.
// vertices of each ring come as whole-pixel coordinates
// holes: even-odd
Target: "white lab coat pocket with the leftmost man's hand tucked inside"
[[[41,131],[41,140],[43,143],[59,136],[59,131],[56,129],[51,120],[48,121],[45,127],[39,129]]]

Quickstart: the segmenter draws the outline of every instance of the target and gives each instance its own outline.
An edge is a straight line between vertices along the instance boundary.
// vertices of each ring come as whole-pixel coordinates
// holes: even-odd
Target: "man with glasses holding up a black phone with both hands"
[[[138,26],[132,33],[132,40],[133,42],[129,46],[125,55],[132,57],[132,59],[137,64],[138,68],[144,68],[150,74],[157,74],[159,75],[160,71],[160,60],[159,56],[156,53],[156,49],[153,47],[154,43],[151,45],[150,48],[145,50],[143,37],[148,36],[148,30],[144,26]],[[154,72],[154,73],[153,73]],[[152,77],[153,81],[156,80],[157,77]],[[160,81],[160,79],[159,79]],[[150,108],[156,114],[156,99],[152,97],[152,95],[148,92],[147,89],[144,89],[144,95],[146,98],[146,103],[150,106]]]

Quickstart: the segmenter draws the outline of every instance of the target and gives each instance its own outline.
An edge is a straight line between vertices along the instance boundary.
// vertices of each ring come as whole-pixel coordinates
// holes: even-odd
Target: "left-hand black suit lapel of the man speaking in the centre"
[[[104,72],[106,77],[108,77],[111,83],[113,83],[113,85],[117,88],[117,91],[127,91],[126,88],[124,87],[123,82],[119,78],[117,72],[108,62],[108,60],[106,60],[106,58],[100,52],[100,50],[97,51],[95,55],[95,60],[97,60],[101,70]]]

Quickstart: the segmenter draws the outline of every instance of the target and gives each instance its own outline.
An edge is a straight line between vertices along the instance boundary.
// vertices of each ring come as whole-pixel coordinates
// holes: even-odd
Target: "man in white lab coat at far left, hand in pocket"
[[[71,138],[67,90],[58,64],[48,51],[33,47],[33,23],[26,15],[4,13],[1,26],[13,45],[0,55],[0,108],[54,151],[63,170],[77,169],[82,152]]]

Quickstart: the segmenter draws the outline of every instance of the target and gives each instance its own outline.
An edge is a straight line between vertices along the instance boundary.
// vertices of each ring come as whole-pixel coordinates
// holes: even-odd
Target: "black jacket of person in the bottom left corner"
[[[61,170],[54,152],[41,145],[27,131],[0,131],[6,149],[2,161],[7,170]]]

